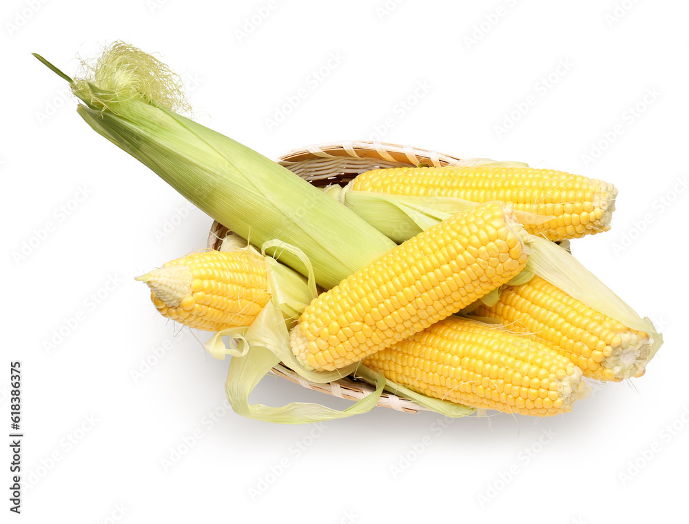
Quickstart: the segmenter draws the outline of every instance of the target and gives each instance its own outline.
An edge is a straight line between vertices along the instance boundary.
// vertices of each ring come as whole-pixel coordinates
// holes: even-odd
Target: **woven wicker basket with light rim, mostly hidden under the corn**
[[[484,159],[473,159],[472,163],[479,163],[482,160]],[[420,164],[440,168],[460,162],[462,162],[461,159],[447,154],[411,148],[408,145],[381,142],[335,142],[309,145],[306,148],[292,150],[278,159],[278,163],[318,187],[333,183],[344,185],[356,175],[375,168]],[[208,236],[208,247],[219,249],[226,234],[227,228],[214,222]],[[282,365],[274,367],[272,372],[309,390],[338,396],[340,399],[360,400],[374,390],[368,383],[350,377],[328,384],[317,384],[307,381]],[[426,407],[388,392],[382,394],[378,405],[408,413],[427,410]]]

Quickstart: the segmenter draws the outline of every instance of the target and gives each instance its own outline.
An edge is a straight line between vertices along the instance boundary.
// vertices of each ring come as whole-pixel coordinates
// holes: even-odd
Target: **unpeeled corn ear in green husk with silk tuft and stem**
[[[114,43],[87,65],[84,79],[71,79],[34,56],[70,83],[83,102],[79,115],[96,132],[253,245],[272,239],[298,245],[322,287],[332,288],[394,247],[287,168],[177,114],[188,108],[181,83],[150,54]],[[290,252],[280,254],[280,261],[306,272]]]

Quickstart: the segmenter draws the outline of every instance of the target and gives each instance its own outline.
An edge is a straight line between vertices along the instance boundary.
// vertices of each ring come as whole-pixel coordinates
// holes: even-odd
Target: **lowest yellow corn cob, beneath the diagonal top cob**
[[[457,316],[363,363],[437,399],[523,415],[568,412],[586,390],[582,370],[565,356],[524,336]]]

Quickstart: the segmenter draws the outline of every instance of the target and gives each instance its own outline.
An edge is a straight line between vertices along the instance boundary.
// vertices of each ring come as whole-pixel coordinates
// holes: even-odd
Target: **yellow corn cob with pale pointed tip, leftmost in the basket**
[[[249,326],[270,301],[263,257],[247,250],[190,254],[136,280],[163,316],[199,330]]]

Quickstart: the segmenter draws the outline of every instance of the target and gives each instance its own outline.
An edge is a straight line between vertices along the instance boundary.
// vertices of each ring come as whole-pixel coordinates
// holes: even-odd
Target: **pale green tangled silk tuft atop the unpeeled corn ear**
[[[192,113],[181,77],[152,54],[123,41],[104,48],[97,59],[81,59],[74,92],[92,92],[89,83],[115,92],[119,100],[144,99],[178,114]]]

